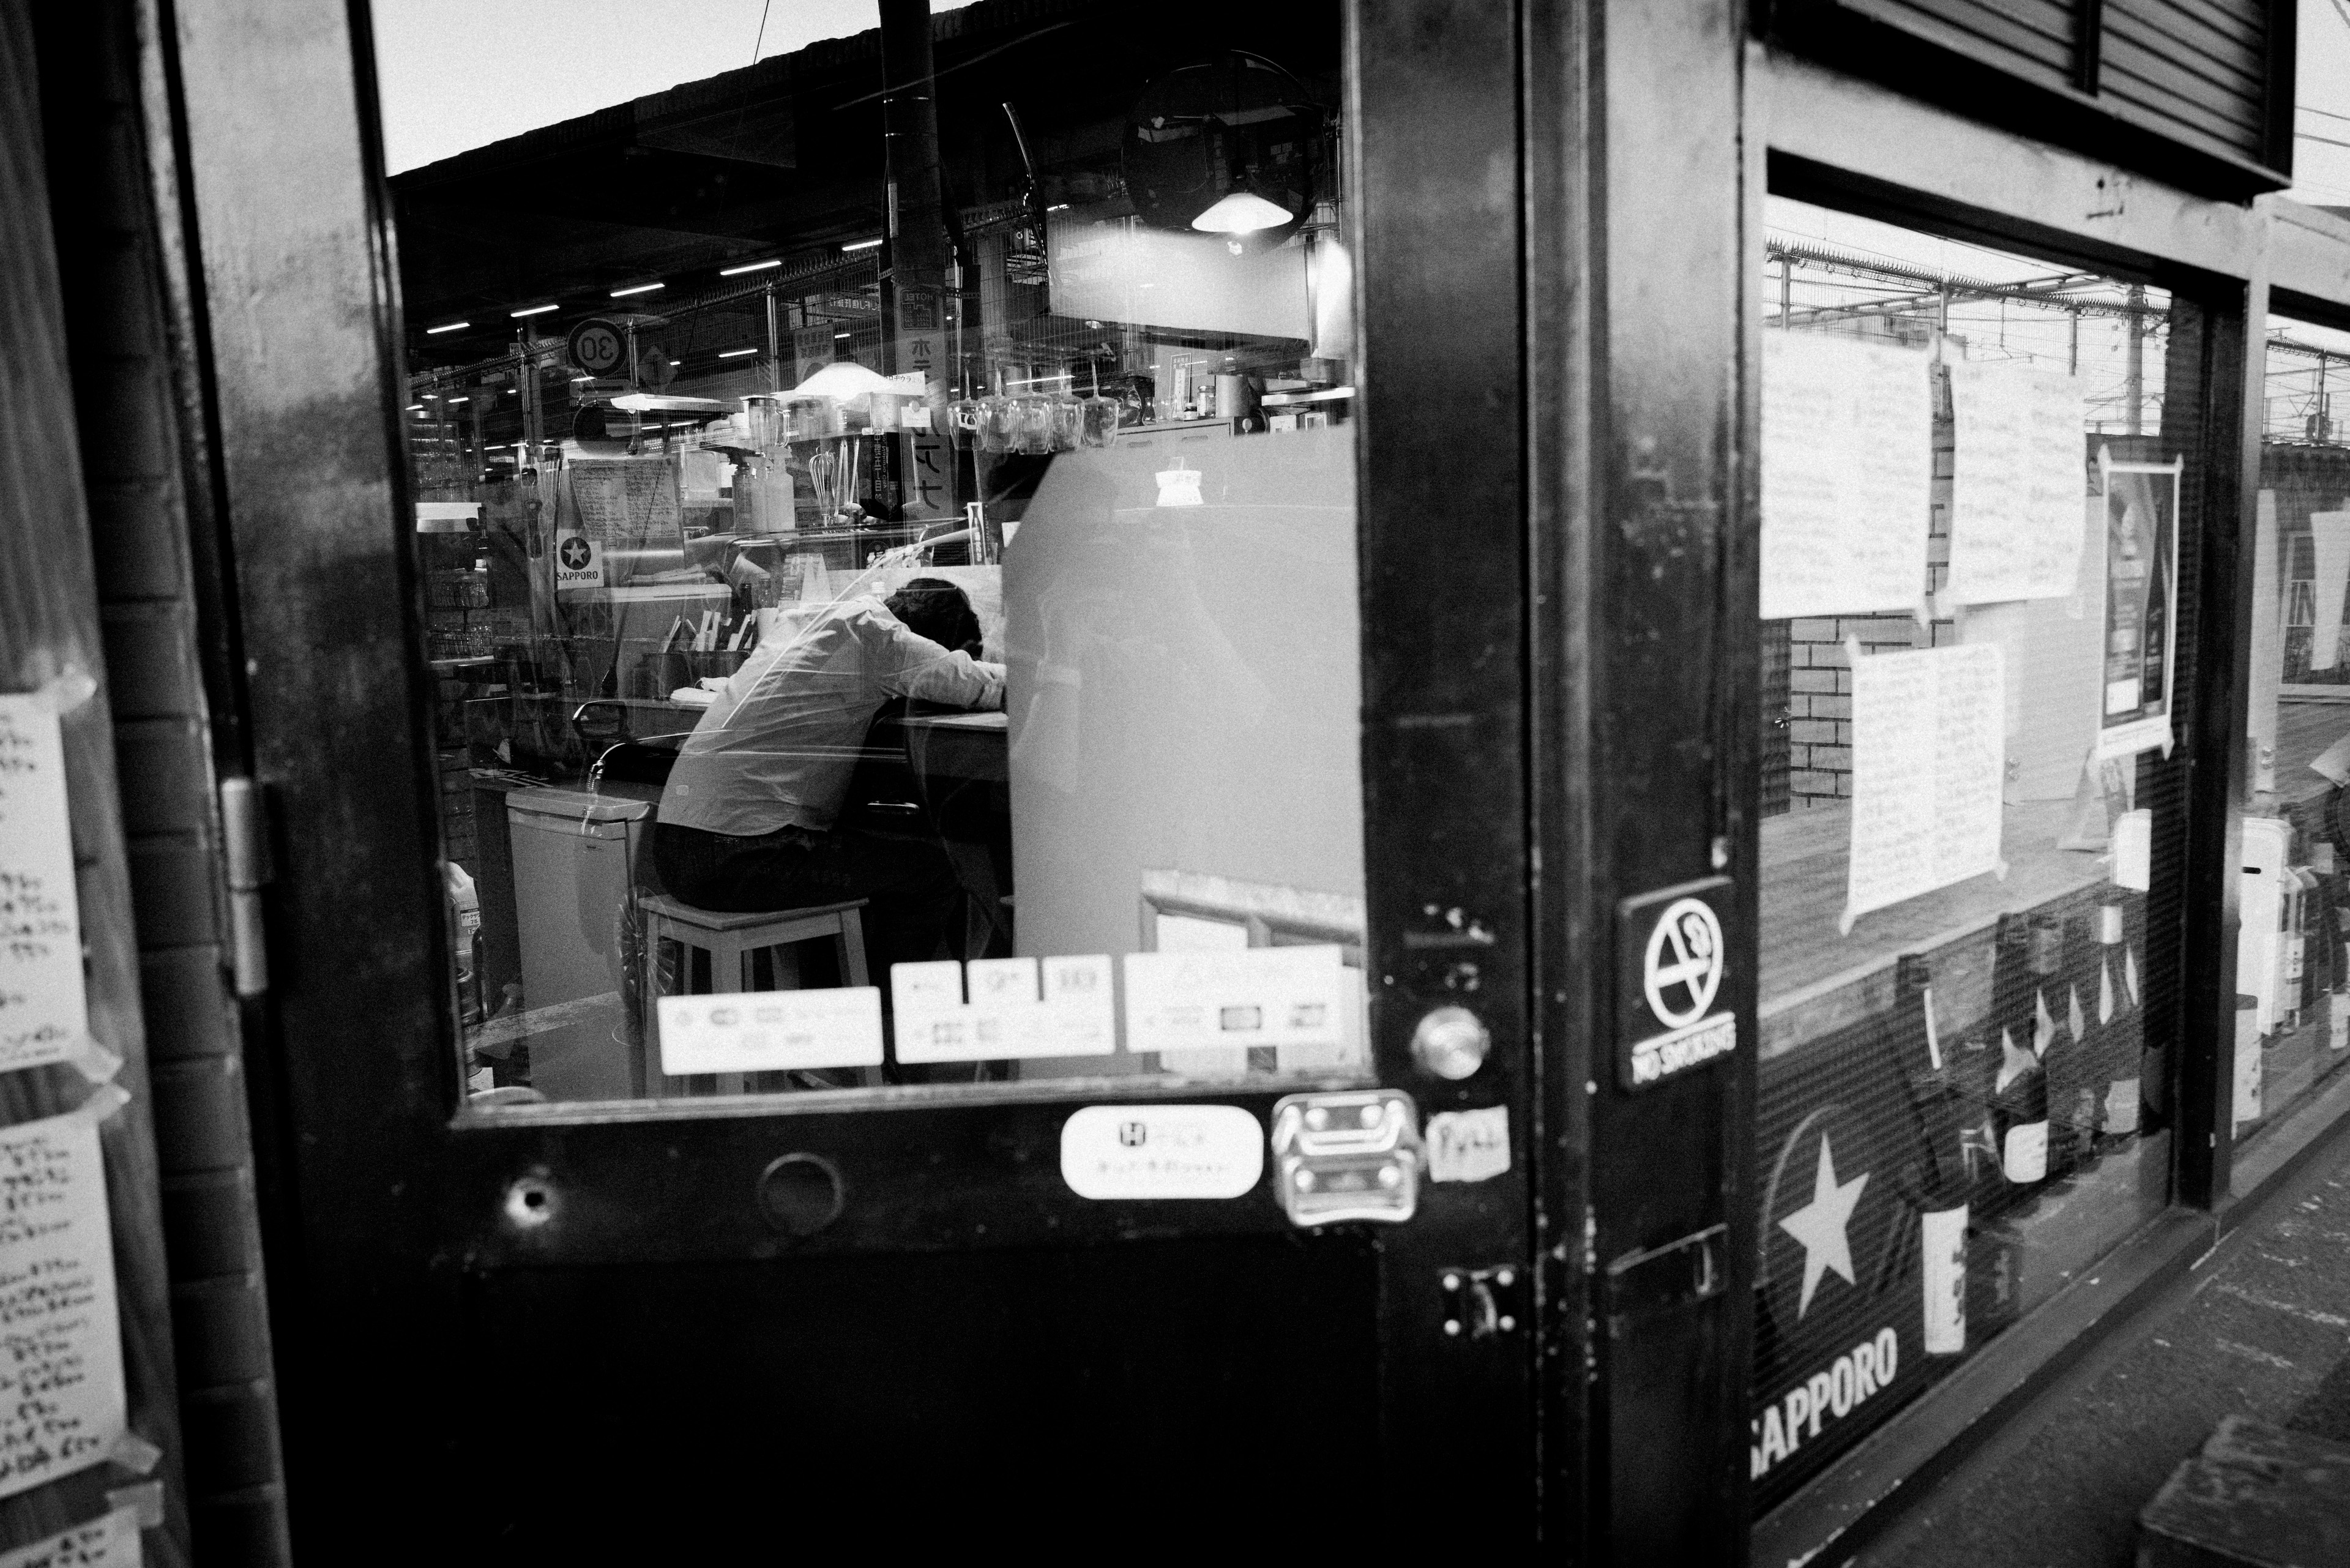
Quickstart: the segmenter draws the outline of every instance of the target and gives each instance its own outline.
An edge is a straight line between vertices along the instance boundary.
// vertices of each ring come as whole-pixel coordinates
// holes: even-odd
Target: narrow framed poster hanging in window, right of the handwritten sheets
[[[2178,623],[2178,475],[2169,463],[2115,463],[2096,449],[2106,494],[2106,644],[2099,682],[2096,759],[2171,750],[2174,644]]]

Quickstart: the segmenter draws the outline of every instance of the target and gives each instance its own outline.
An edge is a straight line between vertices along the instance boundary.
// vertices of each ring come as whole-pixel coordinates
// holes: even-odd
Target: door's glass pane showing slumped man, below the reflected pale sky
[[[392,179],[472,1105],[1365,1074],[1344,99],[971,5]]]

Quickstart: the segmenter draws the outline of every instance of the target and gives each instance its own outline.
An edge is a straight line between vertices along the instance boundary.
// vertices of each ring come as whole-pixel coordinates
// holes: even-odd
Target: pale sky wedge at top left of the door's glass
[[[881,26],[874,0],[376,0],[374,19],[390,174]]]

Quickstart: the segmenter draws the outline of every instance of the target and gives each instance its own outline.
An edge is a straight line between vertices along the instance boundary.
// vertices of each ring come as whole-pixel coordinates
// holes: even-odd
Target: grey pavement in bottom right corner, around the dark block
[[[2221,1415],[2350,1441],[2350,1135],[1866,1547],[1868,1568],[2106,1568]]]

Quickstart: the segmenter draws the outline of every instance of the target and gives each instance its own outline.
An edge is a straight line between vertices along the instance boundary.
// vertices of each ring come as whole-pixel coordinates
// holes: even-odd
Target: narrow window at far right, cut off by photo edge
[[[2350,331],[2270,317],[2254,512],[2251,811],[2237,936],[2237,1147],[2350,1060]]]

